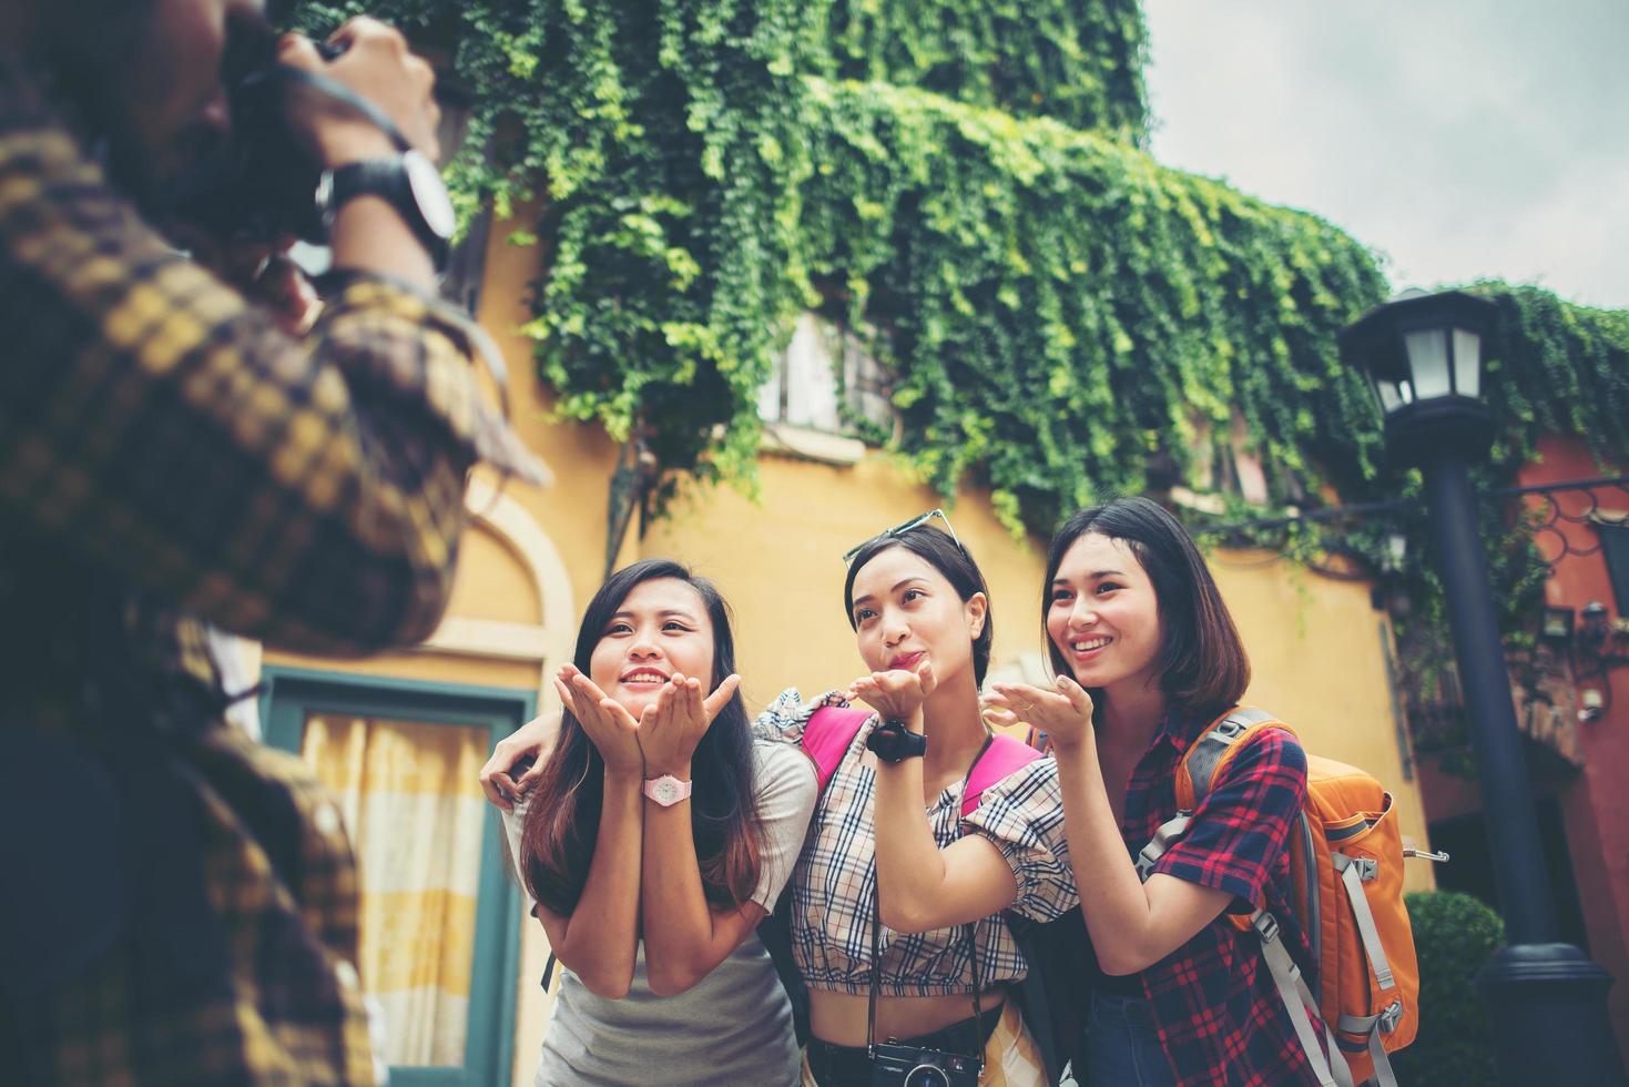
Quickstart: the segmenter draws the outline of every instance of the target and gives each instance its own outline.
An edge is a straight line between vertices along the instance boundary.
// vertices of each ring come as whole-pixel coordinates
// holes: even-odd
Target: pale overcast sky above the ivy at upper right
[[[1153,153],[1302,207],[1394,288],[1629,308],[1629,0],[1145,0]]]

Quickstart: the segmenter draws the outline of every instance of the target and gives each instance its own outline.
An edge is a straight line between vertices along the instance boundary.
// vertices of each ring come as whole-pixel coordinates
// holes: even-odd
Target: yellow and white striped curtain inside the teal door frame
[[[464,1063],[485,728],[311,715],[301,756],[337,797],[362,882],[362,981],[391,1064]]]

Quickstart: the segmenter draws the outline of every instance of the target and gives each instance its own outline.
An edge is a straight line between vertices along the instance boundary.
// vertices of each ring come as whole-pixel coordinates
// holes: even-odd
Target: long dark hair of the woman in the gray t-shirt
[[[730,610],[712,582],[670,559],[645,559],[622,567],[599,587],[577,629],[573,662],[586,675],[611,616],[637,585],[660,579],[684,582],[707,608],[714,629],[714,673],[707,681],[712,691],[735,671]],[[718,909],[740,906],[757,887],[762,857],[762,823],[753,790],[753,737],[740,691],[718,711],[696,746],[691,774],[696,782],[691,833],[702,890],[709,904]],[[569,914],[582,898],[603,803],[604,759],[577,717],[564,711],[560,733],[533,789],[521,830],[521,877],[531,896],[552,913]]]

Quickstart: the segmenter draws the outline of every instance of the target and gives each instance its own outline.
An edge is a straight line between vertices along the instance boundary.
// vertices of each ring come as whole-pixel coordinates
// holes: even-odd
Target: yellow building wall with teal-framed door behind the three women
[[[495,738],[554,707],[547,678],[572,655],[608,541],[614,566],[671,556],[720,585],[756,709],[787,686],[813,694],[857,675],[842,552],[945,505],[875,450],[831,433],[819,403],[795,406],[782,389],[766,394],[775,422],[756,499],[723,487],[681,497],[668,517],[617,541],[626,510],[613,492],[624,450],[596,427],[549,420],[531,344],[513,332],[529,318],[523,300],[536,267],[534,251],[494,246],[481,319],[507,355],[516,427],[552,469],[552,486],[476,481],[453,601],[425,645],[355,662],[264,654],[267,740],[316,766],[358,841],[363,975],[384,1009],[388,1056],[397,1067],[441,1069],[445,1082],[529,1084],[536,1067],[547,945],[523,916],[476,771]],[[784,380],[795,380],[793,367],[811,370],[793,359]],[[950,517],[990,585],[992,670],[1039,676],[1044,541],[1015,541],[976,489],[958,495]],[[1251,652],[1248,701],[1290,722],[1310,750],[1375,772],[1396,797],[1407,841],[1425,847],[1390,681],[1390,624],[1368,587],[1267,552],[1210,561]],[[1425,862],[1407,875],[1414,888],[1432,880]]]

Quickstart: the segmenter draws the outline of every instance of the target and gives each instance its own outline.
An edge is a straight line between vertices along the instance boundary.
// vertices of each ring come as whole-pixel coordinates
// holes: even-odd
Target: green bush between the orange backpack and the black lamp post
[[[1420,1027],[1393,1054],[1398,1082],[1416,1087],[1491,1084],[1492,1046],[1474,978],[1505,945],[1505,926],[1481,900],[1460,891],[1404,898],[1420,966]]]

